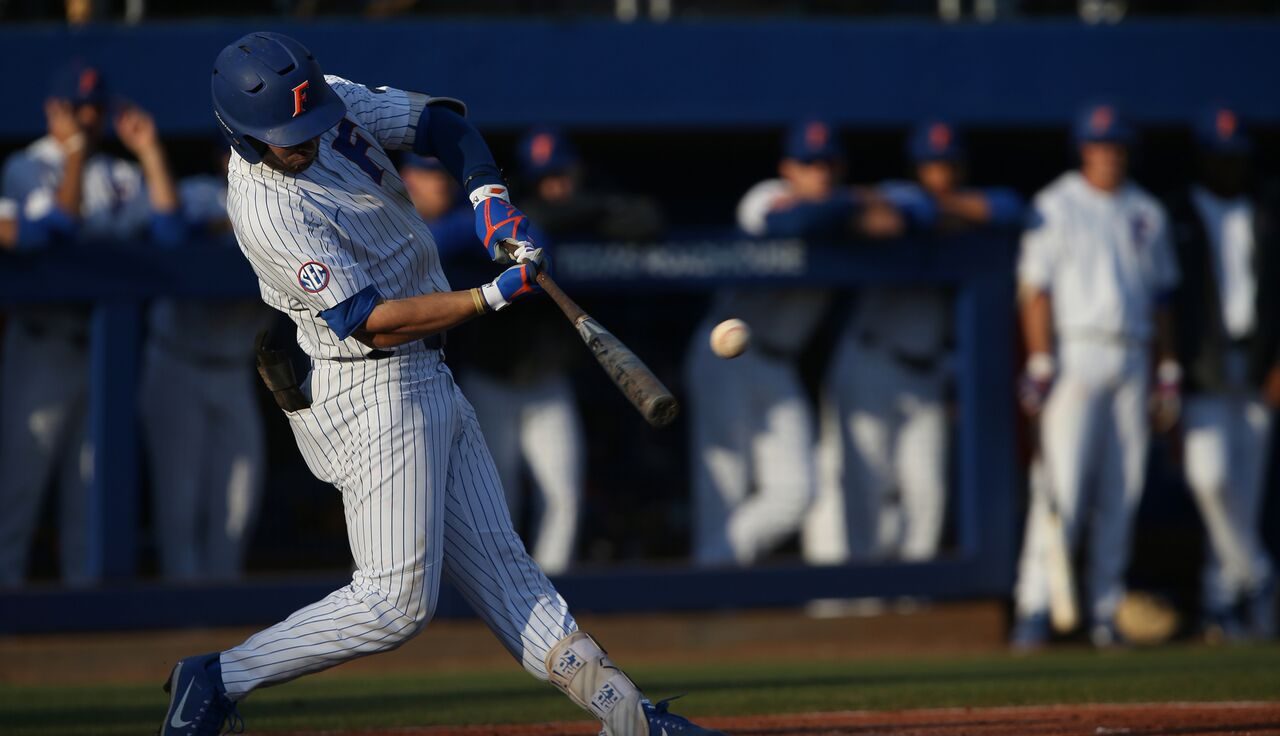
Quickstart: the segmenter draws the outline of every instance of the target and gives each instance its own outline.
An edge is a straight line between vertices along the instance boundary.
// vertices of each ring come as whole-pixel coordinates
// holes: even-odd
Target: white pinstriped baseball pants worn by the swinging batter
[[[577,630],[512,531],[475,412],[436,351],[315,361],[289,421],[307,466],[342,492],[349,585],[221,654],[233,700],[394,649],[426,626],[447,575],[525,669]]]

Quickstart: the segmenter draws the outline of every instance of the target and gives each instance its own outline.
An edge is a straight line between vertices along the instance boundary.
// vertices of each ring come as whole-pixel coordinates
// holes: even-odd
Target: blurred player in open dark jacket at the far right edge
[[[1206,634],[1275,636],[1276,581],[1261,534],[1271,411],[1280,406],[1280,251],[1274,197],[1249,192],[1252,143],[1236,114],[1196,124],[1199,174],[1170,201],[1183,282],[1184,467],[1208,530]],[[1243,611],[1242,611],[1243,608]]]

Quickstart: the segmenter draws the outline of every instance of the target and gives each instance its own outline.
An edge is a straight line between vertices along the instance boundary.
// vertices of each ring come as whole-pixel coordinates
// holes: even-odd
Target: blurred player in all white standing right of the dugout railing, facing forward
[[[1021,398],[1039,421],[1033,483],[1056,499],[1069,549],[1092,512],[1085,613],[1094,645],[1108,646],[1121,643],[1115,613],[1146,474],[1148,407],[1158,429],[1178,415],[1181,371],[1167,306],[1178,264],[1164,207],[1129,179],[1129,124],[1112,106],[1094,105],[1074,136],[1080,169],[1036,196],[1023,236],[1018,279],[1029,357]],[[1033,493],[1012,636],[1021,649],[1048,637],[1048,517],[1046,493]]]

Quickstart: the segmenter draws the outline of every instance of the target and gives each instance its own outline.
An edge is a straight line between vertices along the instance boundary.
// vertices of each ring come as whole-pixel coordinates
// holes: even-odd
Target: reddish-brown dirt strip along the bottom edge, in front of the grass
[[[948,708],[709,718],[733,736],[1193,736],[1280,735],[1280,703]],[[344,732],[342,736],[593,736],[593,722]],[[294,732],[287,736],[338,736]]]

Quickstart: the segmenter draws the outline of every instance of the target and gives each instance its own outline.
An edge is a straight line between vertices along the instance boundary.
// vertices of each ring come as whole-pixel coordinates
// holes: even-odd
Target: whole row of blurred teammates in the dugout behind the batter
[[[46,136],[4,164],[0,246],[146,238],[182,248],[221,234],[234,247],[225,237],[225,147],[210,147],[207,173],[175,180],[151,116],[118,101],[86,64],[55,79],[45,115]],[[1190,123],[1197,177],[1153,195],[1129,175],[1138,131],[1123,110],[1091,105],[1073,125],[1078,166],[1028,202],[1009,188],[972,186],[964,132],[946,120],[911,131],[914,177],[874,184],[850,183],[858,177],[838,129],[801,120],[785,134],[776,175],[737,206],[737,229],[760,238],[945,247],[966,230],[1020,233],[1025,360],[1010,390],[1036,438],[1014,591],[1020,648],[1050,639],[1047,557],[1059,529],[1085,550],[1082,609],[1093,641],[1120,643],[1115,617],[1153,431],[1181,448],[1207,530],[1204,630],[1225,639],[1275,634],[1261,509],[1280,407],[1280,301],[1271,291],[1280,283],[1280,209],[1254,184],[1249,133],[1231,109],[1208,108]],[[104,151],[110,132],[131,157]],[[602,186],[563,131],[529,131],[516,161],[517,201],[552,252],[570,238],[643,242],[668,230],[657,200]],[[416,156],[402,160],[399,175],[451,275],[467,273],[480,250],[458,184]],[[796,538],[814,564],[920,562],[945,552],[957,411],[951,301],[940,287],[872,287],[854,300],[812,287],[712,296],[684,366],[696,564],[749,566]],[[730,317],[749,324],[753,342],[722,360],[708,337]],[[253,335],[271,319],[256,301],[163,300],[148,308],[138,417],[166,580],[243,571],[266,461]],[[549,573],[573,564],[591,443],[572,379],[581,348],[559,320],[543,300],[449,335],[451,364],[517,529]],[[823,324],[836,326],[813,401],[799,361]],[[93,467],[88,334],[83,306],[8,315],[0,586],[23,584],[54,489],[63,579],[97,580],[81,532]]]

